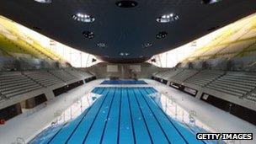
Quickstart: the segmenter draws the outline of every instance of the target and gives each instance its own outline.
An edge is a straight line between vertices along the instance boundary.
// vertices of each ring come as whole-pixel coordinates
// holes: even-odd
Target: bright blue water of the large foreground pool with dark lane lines
[[[30,143],[206,143],[163,112],[148,96],[156,93],[154,88],[95,88],[93,93],[102,97],[82,115],[43,131]]]

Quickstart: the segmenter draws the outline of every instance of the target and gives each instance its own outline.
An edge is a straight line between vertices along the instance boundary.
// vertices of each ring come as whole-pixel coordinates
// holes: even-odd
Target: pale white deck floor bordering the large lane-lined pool
[[[180,107],[187,111],[194,110],[195,118],[207,125],[216,132],[251,132],[256,136],[256,126],[241,120],[236,116],[217,109],[200,99],[195,99],[187,93],[183,93],[175,88],[170,88],[162,83],[150,79],[144,79],[147,87],[157,89],[159,93],[164,93],[167,97],[175,99]],[[56,119],[56,111],[67,109],[76,99],[85,96],[95,87],[145,87],[145,85],[100,85],[104,79],[99,79],[86,83],[83,86],[72,89],[68,93],[63,93],[54,100],[48,101],[46,106],[40,110],[35,110],[33,114],[22,114],[8,120],[5,125],[0,125],[0,143],[17,143],[17,141],[30,141],[40,133],[47,125]],[[20,137],[20,138],[19,138]],[[233,141],[233,143],[256,143],[253,141]]]

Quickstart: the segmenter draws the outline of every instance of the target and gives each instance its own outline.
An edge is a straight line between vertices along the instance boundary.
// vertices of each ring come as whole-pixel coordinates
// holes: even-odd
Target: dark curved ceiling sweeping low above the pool
[[[105,61],[141,62],[256,11],[255,0],[222,0],[209,5],[200,0],[137,0],[133,8],[117,7],[116,2],[1,0],[0,14]],[[95,20],[78,22],[72,19],[77,13],[92,15]],[[168,13],[177,14],[179,19],[157,23],[157,18]],[[93,38],[85,38],[84,31],[93,32]],[[167,32],[166,37],[157,39],[161,32]]]

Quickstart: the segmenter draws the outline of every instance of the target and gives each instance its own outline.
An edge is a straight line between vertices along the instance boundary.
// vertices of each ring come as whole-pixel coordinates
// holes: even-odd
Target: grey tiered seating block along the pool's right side
[[[171,69],[154,73],[152,78],[162,83],[182,84],[196,90],[207,88],[256,104],[256,72]]]

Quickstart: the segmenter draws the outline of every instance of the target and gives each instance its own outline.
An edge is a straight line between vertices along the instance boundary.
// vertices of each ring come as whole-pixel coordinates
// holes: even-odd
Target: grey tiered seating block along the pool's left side
[[[0,102],[40,88],[61,87],[90,78],[92,74],[76,69],[0,72]]]

